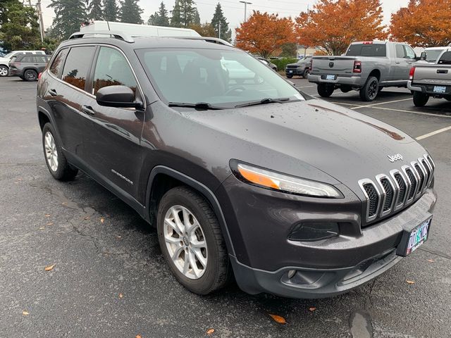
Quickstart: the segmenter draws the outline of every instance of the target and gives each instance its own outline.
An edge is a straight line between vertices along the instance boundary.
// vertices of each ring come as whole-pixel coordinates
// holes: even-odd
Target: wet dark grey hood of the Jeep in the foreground
[[[358,180],[388,174],[426,154],[395,127],[317,99],[182,114],[214,130],[211,146],[221,156],[297,177],[341,182],[354,192]],[[388,156],[395,154],[403,160],[390,162]]]

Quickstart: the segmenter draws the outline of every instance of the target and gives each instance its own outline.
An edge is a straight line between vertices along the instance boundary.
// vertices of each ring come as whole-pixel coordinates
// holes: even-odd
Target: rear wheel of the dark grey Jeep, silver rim
[[[42,128],[42,147],[44,148],[47,168],[56,180],[68,181],[77,175],[78,169],[66,160],[60,144],[56,141],[54,128],[50,123],[46,123]]]

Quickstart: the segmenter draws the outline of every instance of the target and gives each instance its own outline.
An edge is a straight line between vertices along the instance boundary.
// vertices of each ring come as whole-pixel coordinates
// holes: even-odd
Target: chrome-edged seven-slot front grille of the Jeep
[[[390,170],[388,175],[359,180],[366,198],[366,223],[399,211],[419,199],[431,185],[434,169],[432,158],[425,154],[400,170]]]

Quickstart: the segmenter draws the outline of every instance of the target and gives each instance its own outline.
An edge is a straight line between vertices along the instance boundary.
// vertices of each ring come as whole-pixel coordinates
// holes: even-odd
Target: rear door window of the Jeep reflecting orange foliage
[[[64,63],[62,80],[85,90],[87,72],[91,67],[94,51],[94,46],[71,48]]]

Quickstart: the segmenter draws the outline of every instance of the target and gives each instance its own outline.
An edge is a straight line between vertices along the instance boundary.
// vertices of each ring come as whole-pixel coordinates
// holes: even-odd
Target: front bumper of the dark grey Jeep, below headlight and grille
[[[232,220],[230,210],[224,210],[236,253],[230,261],[243,291],[321,298],[364,284],[400,261],[395,251],[402,233],[430,217],[436,200],[433,189],[428,189],[408,208],[361,229],[361,203],[345,187],[340,190],[345,199],[295,195],[287,199],[233,176],[223,183],[218,193],[229,197],[235,216]],[[340,236],[292,241],[288,234],[299,220],[339,222]],[[295,275],[289,278],[291,270]]]

